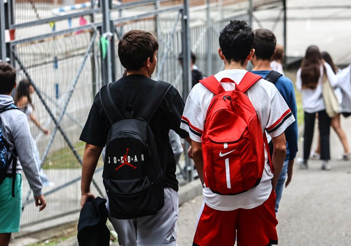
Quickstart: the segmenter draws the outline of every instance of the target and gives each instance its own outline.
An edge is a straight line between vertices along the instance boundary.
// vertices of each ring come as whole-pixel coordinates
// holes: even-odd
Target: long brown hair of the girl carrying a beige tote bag
[[[323,65],[322,56],[315,45],[307,48],[301,63],[302,89],[316,89],[320,77],[320,66]]]

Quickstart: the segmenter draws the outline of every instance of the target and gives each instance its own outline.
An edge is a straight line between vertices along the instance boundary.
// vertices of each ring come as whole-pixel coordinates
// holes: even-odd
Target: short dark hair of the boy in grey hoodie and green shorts
[[[8,94],[16,83],[16,69],[7,62],[0,62],[0,94]]]

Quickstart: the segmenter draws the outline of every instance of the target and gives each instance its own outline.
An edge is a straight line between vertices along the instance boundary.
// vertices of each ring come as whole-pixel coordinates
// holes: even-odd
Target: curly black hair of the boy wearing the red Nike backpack
[[[227,62],[243,65],[253,47],[253,31],[246,21],[231,20],[220,32],[219,47]]]

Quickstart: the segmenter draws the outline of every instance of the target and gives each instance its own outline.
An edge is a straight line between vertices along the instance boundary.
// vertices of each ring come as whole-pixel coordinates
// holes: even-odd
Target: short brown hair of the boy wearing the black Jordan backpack
[[[139,70],[143,63],[150,57],[153,62],[158,42],[150,33],[132,30],[125,33],[118,43],[118,56],[122,66],[129,70]]]

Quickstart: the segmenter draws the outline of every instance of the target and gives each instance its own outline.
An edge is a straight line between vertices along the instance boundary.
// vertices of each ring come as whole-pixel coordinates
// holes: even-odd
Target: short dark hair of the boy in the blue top
[[[256,58],[258,60],[271,60],[276,49],[276,36],[268,29],[257,29],[253,33],[253,48]]]

